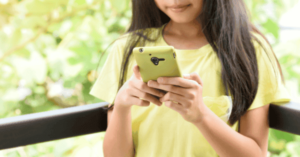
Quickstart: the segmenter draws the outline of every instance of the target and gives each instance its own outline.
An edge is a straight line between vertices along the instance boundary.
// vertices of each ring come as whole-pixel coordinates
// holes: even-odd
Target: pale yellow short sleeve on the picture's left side
[[[121,41],[120,41],[121,40]],[[120,67],[122,62],[122,52],[124,51],[123,39],[118,39],[103,64],[101,72],[94,83],[90,94],[110,104],[118,93]]]

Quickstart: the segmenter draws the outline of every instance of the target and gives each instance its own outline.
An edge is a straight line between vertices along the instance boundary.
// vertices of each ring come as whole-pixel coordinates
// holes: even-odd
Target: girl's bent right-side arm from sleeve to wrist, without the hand
[[[266,157],[269,105],[250,110],[240,119],[240,133],[232,130],[209,108],[196,127],[221,157]]]

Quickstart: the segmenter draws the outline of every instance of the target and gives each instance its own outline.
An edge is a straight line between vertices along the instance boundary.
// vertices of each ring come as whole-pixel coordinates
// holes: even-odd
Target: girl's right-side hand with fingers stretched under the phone
[[[167,91],[160,101],[180,113],[185,120],[191,123],[202,121],[202,108],[205,106],[202,98],[203,84],[197,73],[184,78],[160,77],[157,81],[148,81],[148,86]]]

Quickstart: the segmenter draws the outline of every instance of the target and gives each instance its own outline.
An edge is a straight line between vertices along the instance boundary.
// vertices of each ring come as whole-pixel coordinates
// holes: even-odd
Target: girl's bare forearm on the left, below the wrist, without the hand
[[[115,105],[103,140],[105,157],[133,157],[131,107]]]

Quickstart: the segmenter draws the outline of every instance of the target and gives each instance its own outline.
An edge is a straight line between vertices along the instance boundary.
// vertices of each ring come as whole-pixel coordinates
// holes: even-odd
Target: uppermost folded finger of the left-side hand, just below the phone
[[[165,95],[164,92],[160,91],[160,90],[157,90],[155,88],[151,88],[151,87],[148,87],[147,86],[147,83],[143,82],[143,81],[137,81],[137,82],[132,82],[131,85],[140,90],[140,91],[143,91],[143,92],[146,92],[146,93],[149,93],[149,94],[152,94],[152,95],[155,95],[157,97],[163,97]]]

